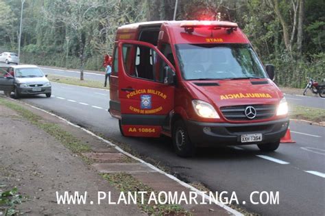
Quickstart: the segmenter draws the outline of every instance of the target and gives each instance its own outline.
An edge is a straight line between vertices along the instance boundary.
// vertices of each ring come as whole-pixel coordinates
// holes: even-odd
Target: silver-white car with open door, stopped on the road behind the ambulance
[[[15,98],[40,94],[51,97],[51,82],[36,65],[0,67],[0,91],[5,95],[13,91]]]

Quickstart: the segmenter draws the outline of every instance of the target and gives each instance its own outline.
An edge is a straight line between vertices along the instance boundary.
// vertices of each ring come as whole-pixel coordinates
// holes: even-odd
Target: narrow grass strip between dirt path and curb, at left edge
[[[82,141],[75,138],[75,136],[73,136],[69,132],[62,130],[60,126],[56,123],[43,122],[43,119],[40,116],[27,110],[26,108],[23,108],[22,106],[19,106],[19,104],[16,104],[12,101],[0,98],[0,104],[19,113],[19,115],[21,115],[23,118],[27,119],[32,124],[36,125],[38,128],[44,130],[45,132],[56,138],[58,141],[60,141],[60,143],[70,149],[73,153],[81,154],[83,152],[91,151],[91,148],[88,145],[82,143]]]

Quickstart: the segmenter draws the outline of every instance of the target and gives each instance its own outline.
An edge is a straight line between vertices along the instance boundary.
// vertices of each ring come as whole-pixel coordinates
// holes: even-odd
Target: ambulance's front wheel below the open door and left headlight
[[[195,145],[190,141],[186,126],[182,120],[173,125],[173,148],[180,157],[191,157],[195,154]]]

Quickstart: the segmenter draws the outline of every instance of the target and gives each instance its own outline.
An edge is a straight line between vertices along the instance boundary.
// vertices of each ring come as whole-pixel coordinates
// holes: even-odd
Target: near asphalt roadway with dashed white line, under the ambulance
[[[325,128],[291,122],[291,135],[297,143],[282,144],[269,154],[252,145],[200,149],[194,158],[179,158],[166,137],[121,136],[117,120],[107,112],[108,91],[53,83],[52,94],[51,98],[40,95],[21,100],[109,139],[128,143],[143,158],[169,167],[185,181],[202,182],[213,191],[235,191],[248,211],[262,215],[324,215]],[[279,191],[279,204],[252,204],[252,191]],[[257,200],[258,195],[254,195]]]

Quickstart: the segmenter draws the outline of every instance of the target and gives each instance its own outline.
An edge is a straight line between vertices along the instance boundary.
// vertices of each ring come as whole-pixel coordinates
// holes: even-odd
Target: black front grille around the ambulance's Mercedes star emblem
[[[248,119],[245,115],[245,108],[252,106],[256,109],[256,117]],[[257,104],[257,105],[242,105],[242,106],[224,106],[221,107],[221,112],[224,117],[231,121],[247,121],[268,119],[276,113],[276,105],[274,104]]]

